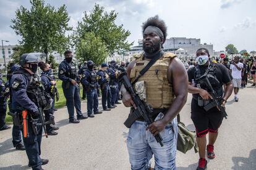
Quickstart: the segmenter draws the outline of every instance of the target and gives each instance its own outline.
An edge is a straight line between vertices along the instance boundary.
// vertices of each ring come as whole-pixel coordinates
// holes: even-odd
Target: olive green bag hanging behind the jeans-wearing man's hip
[[[189,131],[184,123],[181,122],[181,118],[177,115],[178,134],[177,134],[177,150],[182,153],[186,153],[192,147],[194,147],[195,153],[198,152],[196,134],[195,131]]]

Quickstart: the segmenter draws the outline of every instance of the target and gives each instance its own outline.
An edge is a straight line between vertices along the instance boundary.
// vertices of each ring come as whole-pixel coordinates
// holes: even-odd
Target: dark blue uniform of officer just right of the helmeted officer
[[[50,114],[54,114],[54,102],[55,102],[55,93],[57,92],[56,86],[51,84],[51,81],[53,81],[53,77],[51,76],[51,70],[43,71],[41,73],[41,83],[45,87],[45,91],[51,96],[53,99],[53,105],[49,110],[45,110],[45,121],[49,121]],[[51,132],[54,130],[50,124],[46,125],[46,131],[51,134]],[[56,134],[57,132],[53,132],[53,134]]]

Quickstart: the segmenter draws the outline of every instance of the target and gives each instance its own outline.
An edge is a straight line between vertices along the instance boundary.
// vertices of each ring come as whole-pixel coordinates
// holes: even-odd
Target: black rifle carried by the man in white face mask
[[[213,97],[213,102],[208,103],[205,107],[203,107],[206,111],[210,110],[213,107],[217,107],[218,110],[220,110],[221,114],[225,119],[227,119],[227,113],[225,108],[221,105],[223,102],[222,97],[218,97],[218,94],[216,94],[215,90],[213,90],[213,87],[211,86],[211,83],[207,77],[207,75],[203,75],[200,78],[196,79],[196,81],[200,84],[205,84],[207,86],[207,91]]]

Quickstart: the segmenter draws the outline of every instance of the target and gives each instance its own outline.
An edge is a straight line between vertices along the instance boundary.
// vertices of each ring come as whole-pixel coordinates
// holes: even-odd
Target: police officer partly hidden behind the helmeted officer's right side
[[[51,96],[53,99],[53,105],[49,110],[45,110],[45,121],[49,121],[49,117],[53,115],[54,113],[54,100],[55,95],[57,92],[56,88],[56,81],[54,81],[53,77],[51,76],[51,66],[48,63],[40,62],[38,63],[38,66],[43,71],[41,73],[41,83],[45,87],[45,91]],[[53,126],[53,124],[46,124],[46,131],[49,136],[55,136],[58,134],[56,130],[58,130],[59,127]]]

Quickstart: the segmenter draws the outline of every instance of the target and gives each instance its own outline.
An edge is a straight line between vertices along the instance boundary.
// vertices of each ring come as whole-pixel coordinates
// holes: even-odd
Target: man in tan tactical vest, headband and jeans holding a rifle
[[[166,30],[158,16],[148,18],[142,26],[143,54],[129,64],[127,77],[119,77],[123,80],[122,102],[131,107],[125,122],[130,127],[127,148],[131,169],[151,169],[148,163],[153,155],[155,169],[176,168],[176,115],[187,100],[187,73],[176,55],[163,51]],[[134,92],[145,90],[142,96],[134,95],[125,78]],[[138,84],[143,88],[137,88]],[[140,116],[145,112],[147,116]]]

